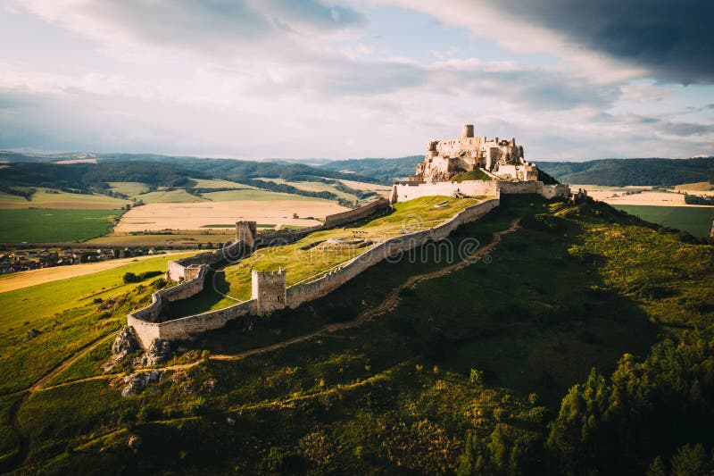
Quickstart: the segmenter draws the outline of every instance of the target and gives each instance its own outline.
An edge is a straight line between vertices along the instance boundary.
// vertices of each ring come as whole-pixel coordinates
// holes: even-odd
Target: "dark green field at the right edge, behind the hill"
[[[645,221],[652,221],[669,228],[684,230],[693,236],[709,236],[711,221],[714,220],[714,206],[652,206],[652,205],[612,205],[638,216]]]

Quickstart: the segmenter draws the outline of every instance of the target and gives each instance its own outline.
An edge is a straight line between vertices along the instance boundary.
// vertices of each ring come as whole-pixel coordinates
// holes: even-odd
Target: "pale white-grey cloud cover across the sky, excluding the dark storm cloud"
[[[528,21],[525,6],[503,13],[495,2],[413,2],[450,27],[555,59],[479,60],[460,41],[435,42],[444,51],[462,46],[460,54],[414,54],[389,44],[392,25],[370,29],[384,8],[373,3],[359,4],[368,19],[346,0],[27,0],[92,54],[67,65],[0,63],[0,148],[397,156],[473,121],[479,134],[515,136],[530,158],[710,149],[710,126],[696,123],[704,114],[674,121],[685,111],[675,94],[682,87],[632,80],[647,70],[582,46],[537,15]],[[24,4],[17,8],[26,13]],[[689,101],[701,108],[710,98],[694,102],[696,88],[687,88]]]

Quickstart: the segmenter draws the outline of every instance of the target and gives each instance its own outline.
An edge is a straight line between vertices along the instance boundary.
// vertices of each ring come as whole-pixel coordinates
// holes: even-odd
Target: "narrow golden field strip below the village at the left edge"
[[[181,256],[186,255],[185,252],[169,252],[162,256],[177,254],[180,254]],[[52,281],[78,278],[79,276],[85,276],[99,271],[112,270],[113,268],[118,268],[129,263],[152,260],[156,257],[157,256],[155,255],[144,255],[131,258],[120,258],[116,260],[106,260],[99,263],[71,264],[69,266],[53,266],[51,268],[42,268],[40,270],[13,272],[12,274],[0,276],[0,293],[12,291],[14,289],[29,288],[30,286],[46,284]]]

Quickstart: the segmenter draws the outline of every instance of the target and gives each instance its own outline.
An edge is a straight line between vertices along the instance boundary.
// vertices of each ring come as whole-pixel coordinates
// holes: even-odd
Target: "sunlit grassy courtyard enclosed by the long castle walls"
[[[486,200],[480,198],[449,198],[428,196],[394,205],[394,213],[376,218],[357,228],[316,231],[307,237],[286,246],[275,246],[256,251],[222,271],[216,271],[209,278],[204,291],[192,299],[181,301],[174,310],[175,315],[189,315],[212,309],[220,309],[244,301],[250,297],[251,270],[287,271],[287,285],[316,277],[340,263],[361,255],[370,247],[387,238],[400,235],[406,228],[411,231],[432,228],[451,218],[464,208]],[[436,208],[436,204],[446,206]],[[361,238],[360,244],[339,246],[329,243],[329,239]]]

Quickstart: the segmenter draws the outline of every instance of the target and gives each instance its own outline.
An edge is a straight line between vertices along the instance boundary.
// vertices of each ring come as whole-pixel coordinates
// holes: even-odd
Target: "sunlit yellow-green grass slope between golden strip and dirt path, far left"
[[[161,274],[169,260],[187,255],[192,254],[137,260],[112,270],[0,293],[0,395],[36,380],[63,355],[126,322],[126,313],[137,305],[126,295],[148,296],[151,288],[146,285],[151,280],[124,284],[124,273]],[[41,334],[26,341],[29,329]]]

